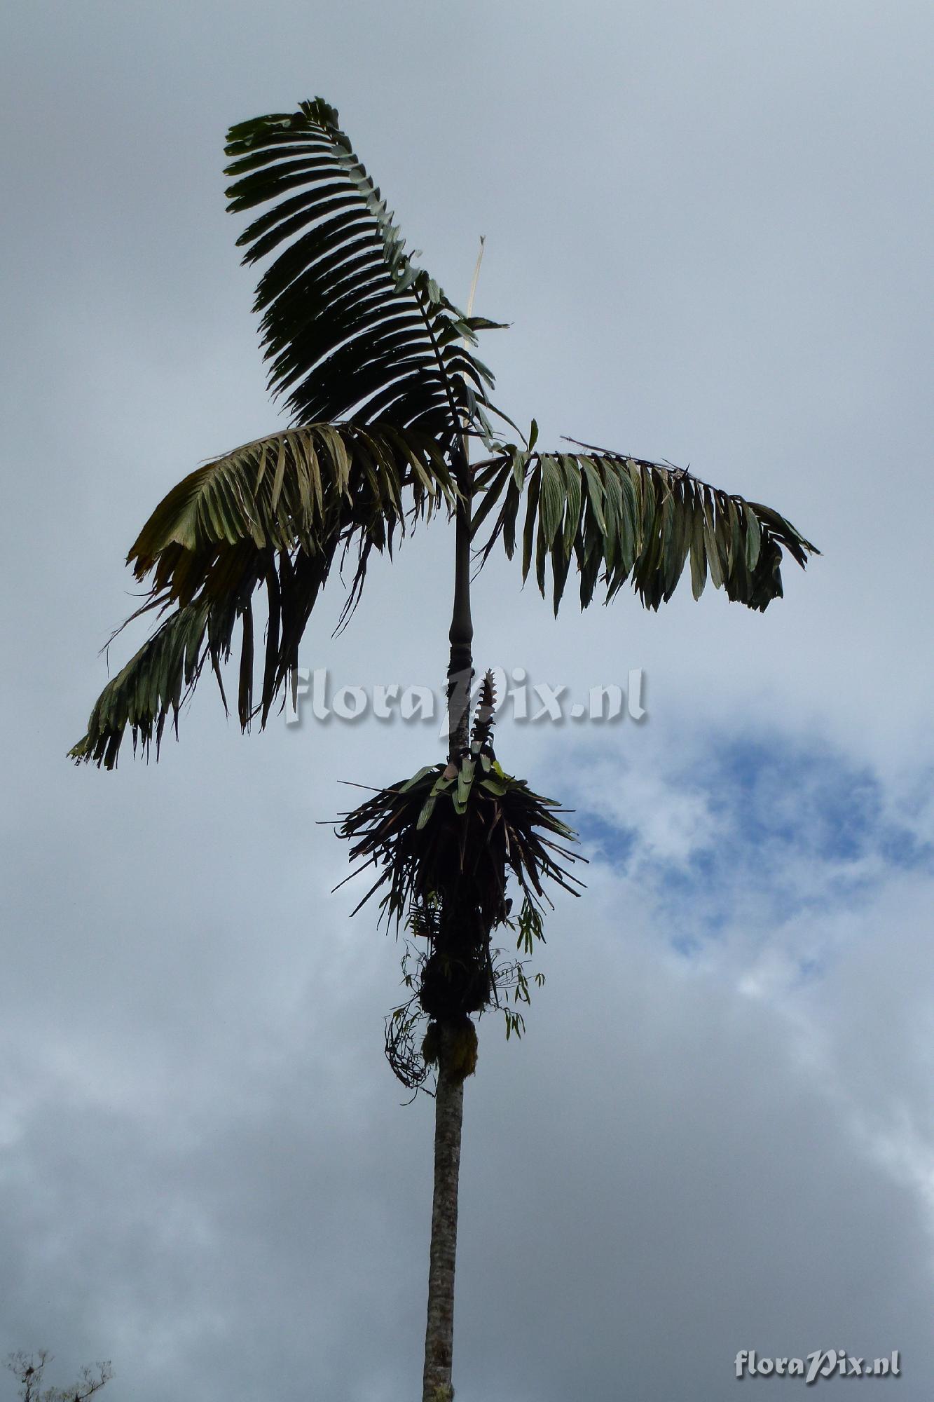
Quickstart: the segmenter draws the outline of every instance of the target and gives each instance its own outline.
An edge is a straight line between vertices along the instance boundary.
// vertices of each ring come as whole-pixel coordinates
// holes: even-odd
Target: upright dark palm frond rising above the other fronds
[[[418,426],[442,450],[485,432],[492,376],[464,346],[496,325],[468,317],[412,262],[380,191],[316,98],[231,126],[227,206],[265,206],[244,230],[245,264],[278,251],[257,287],[271,365],[296,422]],[[285,247],[283,247],[285,245]]]

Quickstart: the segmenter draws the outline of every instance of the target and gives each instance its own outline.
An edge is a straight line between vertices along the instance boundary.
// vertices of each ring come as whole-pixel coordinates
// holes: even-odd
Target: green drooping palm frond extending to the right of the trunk
[[[572,562],[582,608],[597,583],[606,586],[609,603],[627,580],[647,608],[658,608],[672,597],[690,559],[694,599],[710,572],[731,600],[764,610],[783,593],[783,547],[802,568],[809,552],[819,554],[771,508],[708,486],[680,468],[617,453],[530,453],[509,446],[482,464],[475,486],[474,533],[499,506],[481,562],[499,537],[509,558],[520,544],[522,578],[534,565],[543,594],[551,568],[555,614]]]

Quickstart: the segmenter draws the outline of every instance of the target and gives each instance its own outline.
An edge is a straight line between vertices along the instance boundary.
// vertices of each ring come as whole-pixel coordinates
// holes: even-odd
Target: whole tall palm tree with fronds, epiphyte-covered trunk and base
[[[544,594],[551,576],[555,613],[572,564],[582,608],[597,585],[609,600],[627,580],[658,608],[689,559],[696,599],[710,573],[731,600],[764,610],[783,592],[783,550],[804,566],[815,547],[770,508],[687,471],[574,440],[568,451],[539,450],[534,421],[524,435],[495,408],[492,374],[475,356],[478,332],[499,324],[459,310],[417,266],[327,102],[233,126],[226,151],[229,209],[251,220],[238,240],[244,262],[275,255],[255,310],[269,387],[285,395],[292,426],[196,468],[143,526],[128,557],[147,585],[133,617],[153,613],[158,622],[104,687],[70,754],[112,768],[128,729],[135,751],[154,740],[158,754],[165,722],[177,730],[208,662],[223,697],[222,663],[236,646],[240,723],[265,726],[295,686],[299,644],[335,558],[355,561],[344,622],[374,550],[391,552],[435,513],[454,517],[447,764],[380,791],[341,829],[353,855],[380,869],[376,887],[388,882],[387,918],[425,941],[408,976],[415,1011],[429,1019],[424,1046],[402,1056],[414,1023],[397,1009],[387,1047],[407,1084],[421,1084],[426,1064],[438,1075],[424,1398],[439,1402],[453,1396],[471,1015],[510,980],[527,994],[520,965],[495,965],[491,934],[513,925],[508,876],[522,889],[515,925],[526,949],[541,934],[541,879],[574,889],[558,859],[571,858],[564,844],[574,836],[560,810],[495,758],[489,688],[470,732],[471,557],[482,565],[499,541],[508,557],[520,552],[523,580],[534,572]],[[259,659],[257,593],[265,593]],[[519,1030],[515,1015],[510,1026]]]

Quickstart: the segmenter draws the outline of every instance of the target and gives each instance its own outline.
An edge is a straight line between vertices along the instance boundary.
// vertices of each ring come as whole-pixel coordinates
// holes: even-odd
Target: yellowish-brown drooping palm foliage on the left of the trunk
[[[137,614],[175,613],[107,684],[72,757],[112,768],[126,726],[135,747],[140,742],[147,751],[156,739],[158,751],[165,719],[177,725],[205,658],[220,681],[219,663],[230,656],[238,620],[237,711],[247,726],[254,715],[251,597],[261,587],[268,601],[258,701],[265,725],[295,677],[299,642],[338,550],[358,550],[352,607],[369,552],[391,551],[407,526],[454,499],[432,440],[390,426],[313,423],[191,472],[156,508],[128,557],[135,576],[149,579]]]

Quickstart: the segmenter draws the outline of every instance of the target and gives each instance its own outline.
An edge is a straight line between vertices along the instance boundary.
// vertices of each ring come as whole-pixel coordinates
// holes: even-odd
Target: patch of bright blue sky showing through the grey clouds
[[[606,808],[595,812],[592,789],[575,815],[585,855],[651,890],[669,942],[683,953],[738,917],[774,928],[805,911],[851,907],[896,871],[934,875],[934,844],[913,822],[919,805],[893,816],[868,765],[780,733],[697,740],[689,761],[682,750],[661,775],[669,799],[682,795],[710,815],[690,851],[654,848],[645,813],[634,826]],[[613,784],[624,796],[625,771]]]

